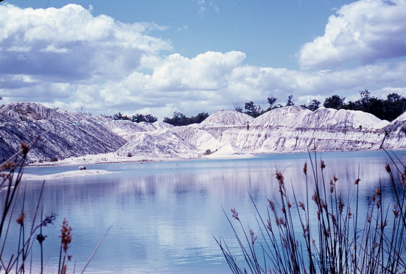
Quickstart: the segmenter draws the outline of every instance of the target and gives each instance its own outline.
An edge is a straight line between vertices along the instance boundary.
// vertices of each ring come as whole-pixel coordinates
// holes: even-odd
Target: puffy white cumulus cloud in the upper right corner
[[[323,36],[300,49],[301,69],[325,69],[357,60],[406,56],[406,1],[363,0],[341,7]]]

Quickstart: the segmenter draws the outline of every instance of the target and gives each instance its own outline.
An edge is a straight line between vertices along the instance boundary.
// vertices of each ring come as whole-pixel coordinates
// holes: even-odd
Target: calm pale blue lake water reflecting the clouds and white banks
[[[406,159],[402,151],[397,155]],[[314,156],[314,155],[313,155]],[[385,202],[394,203],[385,171],[389,162],[383,151],[318,153],[326,163],[326,180],[335,174],[337,189],[345,197],[354,194],[354,181],[361,178],[360,202],[383,185]],[[287,188],[304,201],[303,164],[308,153],[263,154],[249,159],[195,160],[163,163],[86,166],[119,173],[49,180],[41,207],[44,215],[57,213],[54,225],[44,228],[46,271],[55,271],[59,258],[60,224],[65,217],[73,228],[71,272],[82,269],[101,237],[111,227],[86,272],[92,273],[229,273],[213,236],[223,237],[230,249],[239,248],[225,213],[235,208],[244,225],[255,229],[255,209],[249,197],[265,212],[267,198],[279,194],[275,171],[283,171]],[[313,158],[314,161],[314,158]],[[318,162],[318,166],[320,163]],[[26,168],[25,173],[52,174],[77,167]],[[320,176],[320,174],[319,174]],[[41,181],[25,181],[25,223],[37,205]],[[23,190],[23,188],[21,188]],[[0,193],[1,195],[2,193]],[[0,196],[1,197],[1,196]],[[19,196],[22,198],[22,195]],[[21,211],[18,200],[16,212]],[[362,211],[362,210],[361,210]],[[10,229],[18,229],[12,222]],[[28,228],[26,228],[28,229]],[[13,231],[13,230],[11,230]],[[17,230],[18,231],[18,230]],[[37,233],[37,232],[36,232]],[[15,252],[17,236],[10,234],[5,254]],[[33,268],[38,267],[39,244],[33,243]],[[3,255],[3,257],[7,257]],[[38,269],[38,268],[37,268]]]

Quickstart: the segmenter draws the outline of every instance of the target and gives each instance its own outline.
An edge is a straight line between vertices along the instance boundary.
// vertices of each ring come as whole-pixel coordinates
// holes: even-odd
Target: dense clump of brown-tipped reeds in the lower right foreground
[[[235,209],[231,209],[232,218],[241,226],[242,234],[227,217],[243,262],[231,254],[222,238],[216,239],[232,273],[404,272],[406,166],[397,158],[395,162],[389,153],[388,156],[391,165],[386,164],[385,169],[396,203],[385,205],[379,187],[368,198],[366,214],[360,214],[358,208],[361,180],[355,179],[354,194],[344,198],[336,190],[335,175],[325,181],[323,161],[317,168],[310,159],[312,180],[308,178],[307,163],[304,164],[305,201],[296,199],[293,187],[292,194],[288,194],[282,173],[276,172],[280,193],[278,199],[268,199],[266,219],[251,198],[259,233],[246,230]]]

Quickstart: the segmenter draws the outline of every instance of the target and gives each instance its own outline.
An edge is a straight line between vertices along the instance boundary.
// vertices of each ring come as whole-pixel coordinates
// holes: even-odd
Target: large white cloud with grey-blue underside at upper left
[[[46,10],[0,5],[0,43],[7,49],[0,54],[0,76],[70,83],[117,79],[136,69],[143,55],[172,50],[170,42],[147,34],[154,29],[164,27],[94,17],[74,4]]]

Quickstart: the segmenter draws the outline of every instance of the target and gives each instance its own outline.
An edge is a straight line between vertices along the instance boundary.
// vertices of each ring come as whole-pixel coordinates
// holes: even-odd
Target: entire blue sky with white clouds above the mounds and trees
[[[209,114],[406,96],[406,0],[5,0],[2,103]]]

